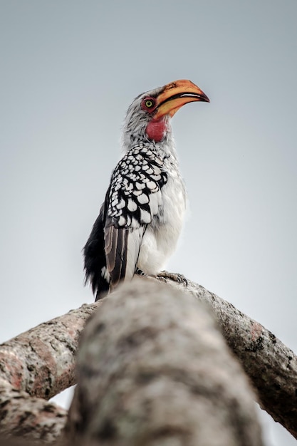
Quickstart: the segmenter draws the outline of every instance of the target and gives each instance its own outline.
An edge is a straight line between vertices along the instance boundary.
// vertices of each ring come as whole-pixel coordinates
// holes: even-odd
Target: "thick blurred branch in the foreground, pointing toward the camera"
[[[209,311],[138,279],[83,332],[69,446],[260,446],[254,393]]]

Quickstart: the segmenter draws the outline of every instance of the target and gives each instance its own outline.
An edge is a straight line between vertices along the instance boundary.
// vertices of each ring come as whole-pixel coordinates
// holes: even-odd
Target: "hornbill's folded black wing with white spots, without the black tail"
[[[132,279],[147,224],[162,207],[167,175],[154,150],[137,145],[120,160],[106,197],[105,256],[112,285]]]

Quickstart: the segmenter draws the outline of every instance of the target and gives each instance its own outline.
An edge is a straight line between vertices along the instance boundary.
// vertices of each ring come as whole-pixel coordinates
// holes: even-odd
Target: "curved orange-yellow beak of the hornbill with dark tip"
[[[207,95],[197,85],[185,79],[168,83],[157,96],[154,120],[160,120],[165,115],[172,117],[182,105],[195,101],[209,102]]]

